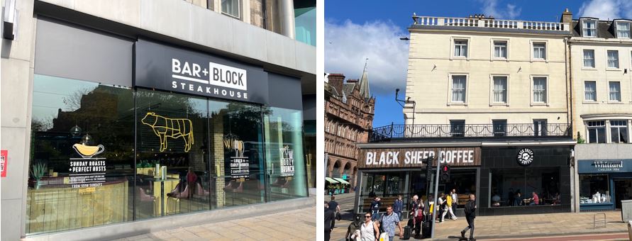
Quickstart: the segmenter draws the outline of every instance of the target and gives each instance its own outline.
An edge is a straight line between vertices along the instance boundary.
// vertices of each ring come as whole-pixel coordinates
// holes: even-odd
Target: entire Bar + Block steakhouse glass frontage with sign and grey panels
[[[300,79],[37,25],[26,235],[307,196]]]

